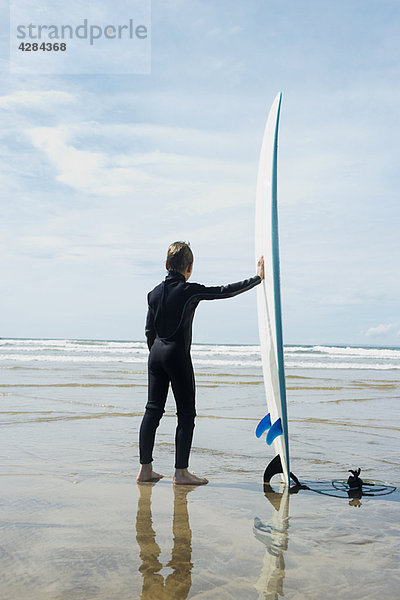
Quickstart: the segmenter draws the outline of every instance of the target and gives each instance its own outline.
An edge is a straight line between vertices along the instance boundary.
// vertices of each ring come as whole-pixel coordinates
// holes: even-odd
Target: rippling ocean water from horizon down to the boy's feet
[[[147,355],[144,342],[0,340],[2,441],[12,439],[8,454],[11,448],[15,454],[3,472],[28,465],[48,472],[53,464],[58,472],[70,468],[90,477],[107,464],[111,472],[125,469],[131,476],[146,403]],[[230,477],[237,470],[253,479],[270,454],[254,436],[266,413],[259,348],[194,344],[192,356],[198,411],[193,459],[211,475],[225,477],[226,469]],[[286,346],[285,369],[294,472],[330,477],[360,466],[370,476],[397,479],[400,348]],[[174,427],[170,395],[158,433],[157,460],[167,469]],[[71,438],[78,440],[74,466]],[[104,446],[107,452],[93,464],[89,457]]]

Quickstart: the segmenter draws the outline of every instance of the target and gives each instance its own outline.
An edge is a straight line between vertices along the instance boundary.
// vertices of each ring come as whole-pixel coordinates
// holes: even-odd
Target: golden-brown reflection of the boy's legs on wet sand
[[[155,484],[138,485],[139,500],[136,516],[136,540],[142,561],[139,571],[143,577],[141,600],[186,600],[192,585],[192,531],[189,525],[187,495],[193,488],[174,486],[173,547],[171,560],[165,565],[172,569],[166,578],[159,573],[164,565],[159,561],[161,549],[156,542],[151,514],[151,494]]]

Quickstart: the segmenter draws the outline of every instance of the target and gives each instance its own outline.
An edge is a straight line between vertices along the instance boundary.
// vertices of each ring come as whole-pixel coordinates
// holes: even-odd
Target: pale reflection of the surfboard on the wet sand
[[[264,485],[264,493],[275,512],[271,523],[266,524],[258,517],[254,519],[254,535],[267,548],[255,587],[260,600],[278,600],[279,596],[284,595],[284,553],[289,541],[289,488],[282,486],[280,492],[275,492],[270,485]]]

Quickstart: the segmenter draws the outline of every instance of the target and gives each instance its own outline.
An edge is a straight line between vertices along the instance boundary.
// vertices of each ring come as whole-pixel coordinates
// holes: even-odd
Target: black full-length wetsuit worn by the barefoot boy
[[[206,287],[188,283],[178,272],[170,272],[165,280],[148,294],[146,320],[148,362],[148,402],[140,427],[140,462],[153,460],[156,429],[164,413],[171,382],[178,425],[175,436],[175,468],[185,469],[189,463],[195,410],[195,383],[190,356],[192,322],[201,300],[231,298],[250,290],[261,282],[258,275],[224,286]]]

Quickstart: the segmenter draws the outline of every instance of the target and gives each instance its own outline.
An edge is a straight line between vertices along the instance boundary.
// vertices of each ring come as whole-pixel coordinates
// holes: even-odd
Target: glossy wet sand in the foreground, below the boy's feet
[[[389,497],[29,474],[0,497],[3,600],[397,598]]]

